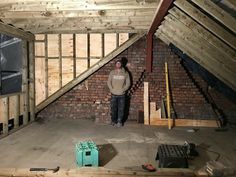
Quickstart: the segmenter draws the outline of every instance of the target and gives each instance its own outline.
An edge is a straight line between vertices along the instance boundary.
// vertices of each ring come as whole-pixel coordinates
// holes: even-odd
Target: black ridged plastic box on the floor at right
[[[156,160],[159,160],[160,168],[188,168],[185,146],[161,144]]]

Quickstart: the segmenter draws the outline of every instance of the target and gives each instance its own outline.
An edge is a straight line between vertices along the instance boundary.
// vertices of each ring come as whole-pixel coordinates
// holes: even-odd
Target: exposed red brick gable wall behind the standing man
[[[145,69],[145,38],[105,65],[86,81],[60,97],[39,113],[44,117],[95,118],[96,121],[110,120],[110,93],[107,87],[109,72],[114,69],[117,58],[127,57],[127,68],[132,74],[133,86],[128,120],[137,120],[139,110],[143,110],[143,80],[150,85],[150,101],[160,106],[165,97],[164,63],[168,62],[173,106],[179,118],[214,118],[211,106],[192,83],[180,64],[180,59],[160,40],[154,40],[153,72]]]

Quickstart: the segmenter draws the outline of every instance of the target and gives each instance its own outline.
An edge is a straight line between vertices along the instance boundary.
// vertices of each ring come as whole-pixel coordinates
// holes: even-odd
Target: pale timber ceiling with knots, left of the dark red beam
[[[159,0],[1,0],[0,19],[32,33],[141,32]]]

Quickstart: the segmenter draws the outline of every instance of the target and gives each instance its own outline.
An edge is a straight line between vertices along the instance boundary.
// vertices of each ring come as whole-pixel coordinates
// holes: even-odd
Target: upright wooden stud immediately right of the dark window
[[[29,85],[28,85],[28,46],[27,41],[22,41],[22,93],[23,93],[23,125],[29,119]]]

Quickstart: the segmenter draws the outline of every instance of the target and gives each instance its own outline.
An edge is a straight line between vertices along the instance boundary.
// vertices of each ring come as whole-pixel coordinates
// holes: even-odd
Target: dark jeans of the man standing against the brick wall
[[[125,94],[111,96],[111,120],[114,123],[123,123],[125,111]]]

